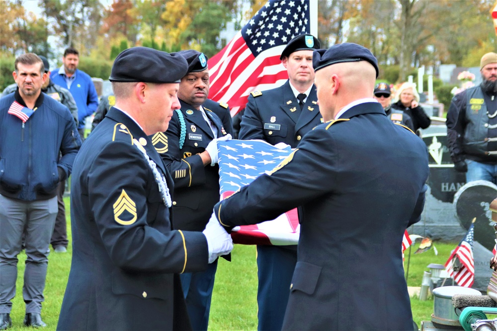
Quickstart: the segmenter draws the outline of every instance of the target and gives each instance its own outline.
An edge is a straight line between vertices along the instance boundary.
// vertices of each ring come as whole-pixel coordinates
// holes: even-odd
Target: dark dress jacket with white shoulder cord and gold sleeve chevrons
[[[178,274],[207,267],[207,241],[173,230],[159,176],[174,199],[152,141],[111,108],[75,161],[73,258],[58,330],[190,329]]]

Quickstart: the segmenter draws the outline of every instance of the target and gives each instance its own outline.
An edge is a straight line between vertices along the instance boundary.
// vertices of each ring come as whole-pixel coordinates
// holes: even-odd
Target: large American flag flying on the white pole
[[[311,2],[267,1],[228,45],[208,60],[209,98],[228,103],[234,116],[245,107],[250,92],[282,85],[288,79],[280,60],[283,49],[293,37],[311,33],[311,21],[317,22]]]

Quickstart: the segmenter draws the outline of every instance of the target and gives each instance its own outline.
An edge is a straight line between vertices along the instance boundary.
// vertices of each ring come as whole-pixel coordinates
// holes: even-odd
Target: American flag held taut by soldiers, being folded
[[[288,145],[277,148],[262,140],[219,141],[218,149],[221,199],[271,171],[292,152]],[[236,227],[231,235],[236,244],[296,245],[300,235],[297,209],[274,220]]]

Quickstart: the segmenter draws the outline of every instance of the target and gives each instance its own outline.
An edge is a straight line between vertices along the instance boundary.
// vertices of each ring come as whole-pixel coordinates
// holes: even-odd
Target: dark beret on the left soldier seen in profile
[[[110,81],[145,83],[179,83],[188,63],[178,53],[166,53],[148,47],[128,48],[117,56]]]

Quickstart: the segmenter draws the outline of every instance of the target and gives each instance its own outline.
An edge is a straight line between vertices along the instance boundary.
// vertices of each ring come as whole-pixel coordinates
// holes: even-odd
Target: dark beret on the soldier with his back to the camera
[[[331,46],[329,49],[316,50],[313,53],[312,63],[314,71],[331,66],[335,63],[367,61],[374,66],[378,77],[378,60],[365,47],[352,43],[342,43]]]

